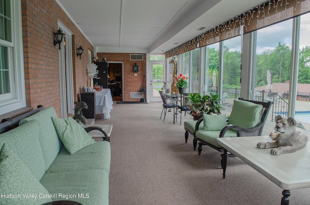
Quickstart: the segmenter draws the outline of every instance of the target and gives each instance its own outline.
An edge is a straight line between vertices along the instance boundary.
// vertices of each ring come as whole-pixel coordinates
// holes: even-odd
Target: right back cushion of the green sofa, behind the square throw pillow
[[[57,117],[53,107],[47,107],[30,117],[20,120],[19,125],[31,119],[39,121],[39,141],[41,144],[43,157],[46,163],[46,170],[53,163],[57,154],[62,148],[62,141],[59,139],[51,117]]]

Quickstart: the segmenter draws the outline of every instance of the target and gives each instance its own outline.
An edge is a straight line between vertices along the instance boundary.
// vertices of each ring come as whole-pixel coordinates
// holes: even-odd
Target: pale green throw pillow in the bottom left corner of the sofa
[[[52,201],[43,198],[48,191],[7,144],[0,152],[0,193],[1,205],[41,205]]]

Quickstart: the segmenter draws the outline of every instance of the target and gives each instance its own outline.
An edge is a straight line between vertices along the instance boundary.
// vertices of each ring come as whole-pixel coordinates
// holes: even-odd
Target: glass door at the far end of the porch
[[[166,71],[166,61],[151,61],[152,72],[150,76],[150,101],[151,102],[160,102],[161,97],[159,95],[159,90],[164,85],[164,73]]]

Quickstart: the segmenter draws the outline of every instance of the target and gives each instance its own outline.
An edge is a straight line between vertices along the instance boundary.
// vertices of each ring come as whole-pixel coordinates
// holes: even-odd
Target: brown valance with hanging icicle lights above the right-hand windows
[[[166,59],[310,12],[310,0],[268,0],[165,53]]]

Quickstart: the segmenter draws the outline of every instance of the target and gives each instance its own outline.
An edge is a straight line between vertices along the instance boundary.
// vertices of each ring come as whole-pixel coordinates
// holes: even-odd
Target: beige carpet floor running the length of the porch
[[[282,190],[238,158],[228,159],[223,179],[220,153],[203,146],[198,155],[183,122],[173,124],[171,112],[163,122],[161,110],[114,103],[110,119],[95,119],[113,124],[110,205],[280,205]],[[290,205],[309,204],[310,189],[291,190]]]

